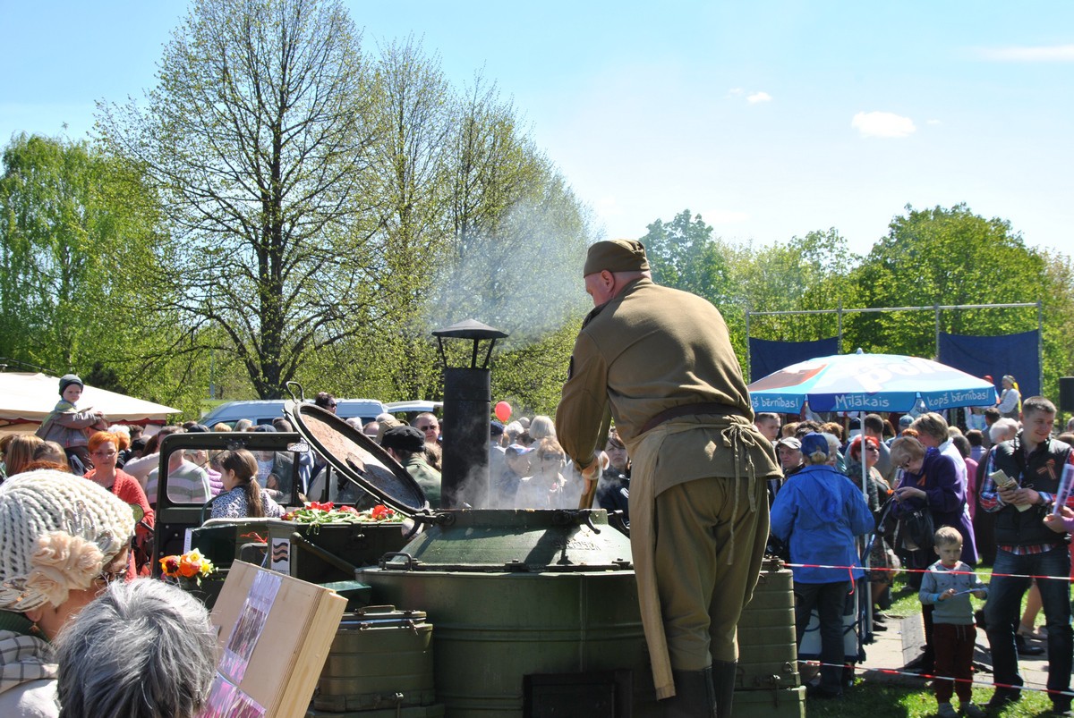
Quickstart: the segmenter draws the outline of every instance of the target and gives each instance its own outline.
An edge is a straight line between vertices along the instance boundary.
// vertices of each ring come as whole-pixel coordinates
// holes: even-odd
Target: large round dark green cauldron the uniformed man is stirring
[[[435,620],[436,695],[447,715],[538,715],[540,697],[571,690],[568,674],[607,680],[609,695],[619,691],[630,704],[599,715],[655,715],[629,540],[606,512],[437,518],[405,553],[360,570],[358,580],[376,600]]]

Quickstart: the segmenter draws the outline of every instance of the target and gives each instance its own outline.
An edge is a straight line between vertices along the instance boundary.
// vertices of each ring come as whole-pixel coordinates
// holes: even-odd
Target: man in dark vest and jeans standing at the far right
[[[996,515],[996,563],[985,604],[988,643],[992,651],[996,689],[989,706],[999,708],[1020,697],[1014,627],[1021,597],[1037,578],[1048,629],[1048,690],[1056,715],[1072,715],[1070,690],[1074,640],[1071,632],[1070,552],[1066,534],[1044,524],[1051,512],[1063,469],[1072,461],[1071,446],[1051,438],[1056,407],[1042,396],[1022,402],[1022,429],[991,452],[981,489],[981,508]],[[1002,471],[1014,483],[1002,485],[992,474]],[[1068,499],[1068,505],[1072,505]],[[1072,505],[1074,508],[1074,505]],[[1062,691],[1060,693],[1059,691]]]

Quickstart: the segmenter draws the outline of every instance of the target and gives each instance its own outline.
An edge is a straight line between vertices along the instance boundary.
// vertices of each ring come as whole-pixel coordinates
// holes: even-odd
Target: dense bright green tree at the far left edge
[[[157,221],[130,165],[85,142],[15,137],[0,178],[0,355],[144,386],[132,320],[162,272]]]

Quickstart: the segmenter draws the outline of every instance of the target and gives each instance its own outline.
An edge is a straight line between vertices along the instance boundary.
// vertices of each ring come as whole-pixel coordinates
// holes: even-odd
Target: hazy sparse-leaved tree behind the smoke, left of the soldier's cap
[[[427,316],[440,326],[473,318],[509,334],[497,345],[495,391],[550,412],[574,341],[565,345],[561,332],[585,310],[589,211],[495,84],[478,75],[464,88],[452,126],[449,240]]]

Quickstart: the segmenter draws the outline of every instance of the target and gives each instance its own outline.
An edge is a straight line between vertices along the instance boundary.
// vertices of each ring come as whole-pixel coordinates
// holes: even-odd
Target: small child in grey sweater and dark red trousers
[[[973,646],[977,640],[977,627],[973,622],[970,594],[983,599],[988,596],[988,587],[981,583],[973,567],[959,560],[962,536],[958,529],[941,526],[935,532],[934,543],[940,560],[925,572],[917,596],[921,603],[935,606],[932,612],[935,672],[938,676],[944,676],[932,682],[940,704],[938,715],[941,718],[958,716],[950,704],[954,692],[964,715],[984,718],[985,712],[972,702]]]

